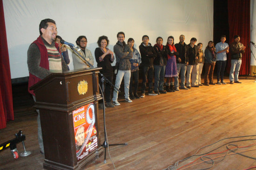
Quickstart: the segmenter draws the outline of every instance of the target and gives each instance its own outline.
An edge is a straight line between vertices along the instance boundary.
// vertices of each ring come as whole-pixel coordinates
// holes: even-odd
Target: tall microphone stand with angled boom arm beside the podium
[[[69,45],[69,44],[68,44]],[[81,56],[81,54],[79,54],[79,52],[77,50],[74,49],[74,47],[72,45],[69,45],[69,47],[77,54],[79,55],[90,67],[94,68],[94,66],[89,63],[83,56]],[[102,85],[99,86],[101,88],[101,93],[102,93],[102,98],[103,98],[103,123],[104,123],[104,142],[101,146],[104,147],[104,164],[107,163],[106,160],[106,152],[107,152],[107,148],[108,146],[115,146],[115,145],[128,145],[128,143],[122,143],[122,144],[108,144],[107,141],[107,132],[106,132],[106,113],[105,113],[105,101],[104,101],[104,82],[106,81],[107,83],[109,83],[111,86],[113,86],[118,92],[121,92],[116,86],[114,86],[112,84],[112,82],[110,82],[107,77],[105,77],[101,72],[99,73],[99,75],[101,76],[101,82]]]

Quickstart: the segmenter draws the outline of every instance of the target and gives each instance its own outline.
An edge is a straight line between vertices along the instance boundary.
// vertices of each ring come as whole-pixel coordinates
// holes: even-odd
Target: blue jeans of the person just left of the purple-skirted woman
[[[155,69],[155,83],[154,83],[154,90],[155,91],[162,91],[163,90],[163,83],[164,83],[164,71],[165,65],[154,65]]]

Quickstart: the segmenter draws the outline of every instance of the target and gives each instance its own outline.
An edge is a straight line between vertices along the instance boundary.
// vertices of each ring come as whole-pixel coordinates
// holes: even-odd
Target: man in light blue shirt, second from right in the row
[[[227,64],[227,53],[229,53],[229,44],[225,43],[226,41],[226,36],[222,35],[221,36],[221,42],[217,43],[215,48],[216,48],[216,53],[217,53],[217,61],[216,61],[216,66],[217,66],[217,84],[226,84],[223,81],[224,77],[224,71],[225,67]],[[221,81],[220,81],[221,78]]]

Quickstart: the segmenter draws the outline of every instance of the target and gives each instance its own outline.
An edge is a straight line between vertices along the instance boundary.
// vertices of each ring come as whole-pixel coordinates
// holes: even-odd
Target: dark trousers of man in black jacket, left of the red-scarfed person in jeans
[[[141,84],[141,93],[145,93],[146,83],[148,79],[148,92],[152,92],[153,90],[153,76],[154,76],[154,67],[150,66],[142,66],[142,84]]]

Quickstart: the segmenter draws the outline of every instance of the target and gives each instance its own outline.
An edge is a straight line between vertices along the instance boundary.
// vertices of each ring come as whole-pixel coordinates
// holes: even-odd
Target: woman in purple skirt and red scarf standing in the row
[[[165,77],[167,77],[166,91],[175,92],[174,77],[178,76],[177,65],[176,65],[176,55],[178,54],[178,52],[176,51],[176,48],[174,46],[173,36],[168,37],[165,48],[168,51],[168,61],[165,68]]]

